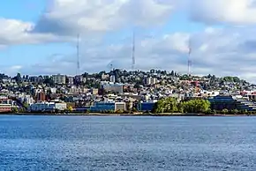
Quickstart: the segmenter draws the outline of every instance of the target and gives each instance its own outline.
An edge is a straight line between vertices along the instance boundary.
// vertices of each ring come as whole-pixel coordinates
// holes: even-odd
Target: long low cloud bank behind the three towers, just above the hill
[[[192,73],[233,75],[253,81],[256,78],[256,39],[251,27],[214,29],[192,35]],[[169,33],[161,37],[137,40],[136,68],[150,70],[187,71],[188,33]],[[75,54],[52,56],[44,63],[21,68],[22,73],[75,74]],[[115,68],[126,70],[132,65],[132,45],[114,44],[87,48],[80,57],[81,71],[109,70],[109,63]],[[57,67],[56,67],[57,66]],[[255,81],[254,81],[255,82]]]

